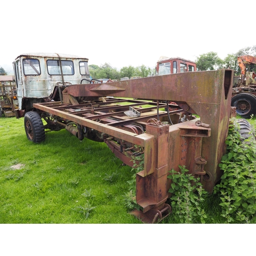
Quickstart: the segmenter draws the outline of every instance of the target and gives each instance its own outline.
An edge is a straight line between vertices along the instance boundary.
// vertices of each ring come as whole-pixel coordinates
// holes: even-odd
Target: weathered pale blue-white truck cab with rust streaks
[[[33,103],[60,101],[60,92],[71,84],[90,83],[88,59],[57,53],[27,53],[13,62],[21,117]]]

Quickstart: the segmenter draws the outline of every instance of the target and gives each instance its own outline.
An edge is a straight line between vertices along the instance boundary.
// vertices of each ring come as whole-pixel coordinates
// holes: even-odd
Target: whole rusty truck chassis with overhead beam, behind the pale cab
[[[209,192],[220,180],[232,79],[233,71],[218,70],[75,84],[63,90],[63,103],[33,106],[47,121],[45,129],[65,127],[80,140],[104,141],[130,166],[133,156],[144,155],[144,169],[136,175],[136,201],[142,210],[133,214],[154,223],[172,211],[166,204],[171,169],[186,166]],[[172,111],[163,101],[178,107]]]

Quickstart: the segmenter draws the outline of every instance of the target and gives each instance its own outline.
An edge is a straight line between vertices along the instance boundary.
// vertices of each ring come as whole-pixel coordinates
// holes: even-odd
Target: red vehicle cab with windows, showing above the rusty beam
[[[169,75],[183,72],[196,71],[196,62],[183,58],[160,57],[157,61],[157,75]]]

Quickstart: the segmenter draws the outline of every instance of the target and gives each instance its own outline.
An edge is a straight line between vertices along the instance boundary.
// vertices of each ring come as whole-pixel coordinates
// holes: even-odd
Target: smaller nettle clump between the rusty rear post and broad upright
[[[207,194],[200,178],[188,174],[185,166],[179,165],[180,172],[170,170],[167,177],[172,179],[169,193],[172,193],[171,205],[173,215],[179,218],[180,223],[205,223],[207,218],[202,207],[203,195]]]

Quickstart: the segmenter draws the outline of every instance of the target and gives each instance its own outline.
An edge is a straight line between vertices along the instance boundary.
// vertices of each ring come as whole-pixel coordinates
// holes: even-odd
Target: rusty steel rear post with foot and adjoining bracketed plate
[[[178,165],[188,165],[191,174],[203,173],[201,171],[206,162],[201,160],[202,137],[210,136],[210,128],[196,126],[195,122],[196,120],[191,120],[172,126],[147,123],[146,132],[156,137],[156,151],[152,153],[155,169],[153,173],[147,173],[146,169],[137,173],[136,200],[143,208],[143,214],[135,211],[132,213],[135,216],[152,223],[156,217],[155,214],[152,215],[153,212],[165,211],[170,187],[167,176],[170,169],[178,171]],[[169,207],[165,216],[170,212]],[[160,215],[160,218],[164,217]]]

